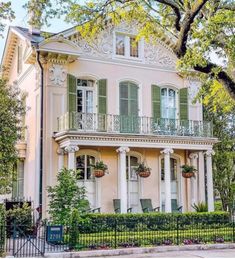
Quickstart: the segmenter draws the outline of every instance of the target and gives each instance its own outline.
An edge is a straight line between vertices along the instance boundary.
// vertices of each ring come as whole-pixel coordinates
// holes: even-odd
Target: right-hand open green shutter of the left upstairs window
[[[98,81],[98,113],[107,113],[107,79]]]

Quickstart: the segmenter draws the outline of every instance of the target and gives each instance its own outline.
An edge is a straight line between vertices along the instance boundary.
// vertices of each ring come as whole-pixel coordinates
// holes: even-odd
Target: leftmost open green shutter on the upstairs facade
[[[68,74],[67,76],[68,84],[68,112],[76,112],[76,102],[77,102],[77,84],[76,77]]]

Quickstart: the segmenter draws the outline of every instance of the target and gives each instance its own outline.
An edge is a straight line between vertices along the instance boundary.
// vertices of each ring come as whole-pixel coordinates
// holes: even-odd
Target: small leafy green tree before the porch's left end
[[[74,209],[83,212],[89,206],[85,187],[79,187],[77,171],[62,169],[57,174],[57,184],[47,188],[49,197],[49,214],[56,224],[68,225]]]

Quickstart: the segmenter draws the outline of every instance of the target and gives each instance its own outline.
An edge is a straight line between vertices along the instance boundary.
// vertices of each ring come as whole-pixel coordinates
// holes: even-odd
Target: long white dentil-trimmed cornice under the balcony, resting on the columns
[[[103,147],[145,147],[207,150],[211,149],[217,138],[166,136],[166,135],[130,135],[130,134],[107,134],[107,133],[78,133],[60,132],[55,133],[55,141],[60,147],[68,145],[78,146],[103,146]]]

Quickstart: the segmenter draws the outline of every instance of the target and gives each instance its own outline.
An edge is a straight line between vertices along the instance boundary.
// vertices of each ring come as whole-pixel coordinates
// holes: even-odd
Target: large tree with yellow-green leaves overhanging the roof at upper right
[[[216,79],[235,99],[234,0],[31,0],[31,24],[47,22],[53,15],[78,26],[82,36],[95,37],[107,23],[135,21],[138,37],[163,39],[179,59],[179,69],[193,69]],[[44,15],[42,15],[44,14]],[[211,61],[216,53],[225,66]],[[205,80],[205,77],[203,78]]]

